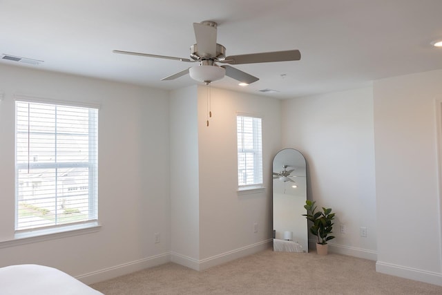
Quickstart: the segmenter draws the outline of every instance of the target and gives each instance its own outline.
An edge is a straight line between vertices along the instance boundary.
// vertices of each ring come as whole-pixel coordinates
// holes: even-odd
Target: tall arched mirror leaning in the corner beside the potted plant
[[[305,158],[296,149],[283,149],[273,158],[273,251],[308,251],[305,200]]]

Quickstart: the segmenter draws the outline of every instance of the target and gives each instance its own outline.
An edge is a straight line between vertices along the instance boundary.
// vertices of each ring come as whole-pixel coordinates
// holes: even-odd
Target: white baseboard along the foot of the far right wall
[[[401,265],[393,265],[391,263],[383,263],[381,261],[376,262],[376,272],[442,286],[442,274],[437,272],[427,272],[421,269],[403,267]]]

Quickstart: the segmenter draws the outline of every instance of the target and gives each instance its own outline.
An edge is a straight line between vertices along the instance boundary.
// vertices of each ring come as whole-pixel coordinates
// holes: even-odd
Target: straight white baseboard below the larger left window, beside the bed
[[[171,261],[171,253],[167,252],[160,255],[151,256],[148,258],[135,260],[130,263],[124,263],[122,265],[115,265],[105,269],[100,269],[97,272],[90,272],[81,276],[76,276],[78,280],[90,285],[93,283],[101,282],[102,280],[110,280],[117,276],[123,276],[124,274],[130,274],[131,272],[137,272],[149,267],[155,267]]]

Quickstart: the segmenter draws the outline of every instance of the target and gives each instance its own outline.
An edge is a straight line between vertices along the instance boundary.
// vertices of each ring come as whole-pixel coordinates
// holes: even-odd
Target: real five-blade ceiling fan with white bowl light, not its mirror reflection
[[[299,50],[273,51],[267,53],[251,53],[246,55],[225,55],[226,48],[216,43],[218,24],[215,21],[202,21],[193,23],[196,44],[191,46],[191,59],[181,57],[169,57],[164,55],[151,55],[148,53],[134,53],[131,51],[113,50],[113,53],[125,55],[140,55],[161,59],[174,59],[184,62],[199,62],[198,66],[192,66],[173,75],[164,77],[163,80],[173,80],[189,73],[192,79],[209,84],[222,79],[227,75],[244,84],[251,84],[259,80],[248,73],[233,68],[229,64],[256,64],[274,61],[296,61],[301,58]],[[218,66],[217,63],[226,64]]]

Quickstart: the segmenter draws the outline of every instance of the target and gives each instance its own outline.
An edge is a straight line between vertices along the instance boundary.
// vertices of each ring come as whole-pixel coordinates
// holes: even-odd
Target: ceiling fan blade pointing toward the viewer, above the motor
[[[202,21],[193,23],[195,30],[196,48],[200,57],[216,56],[216,23]]]

